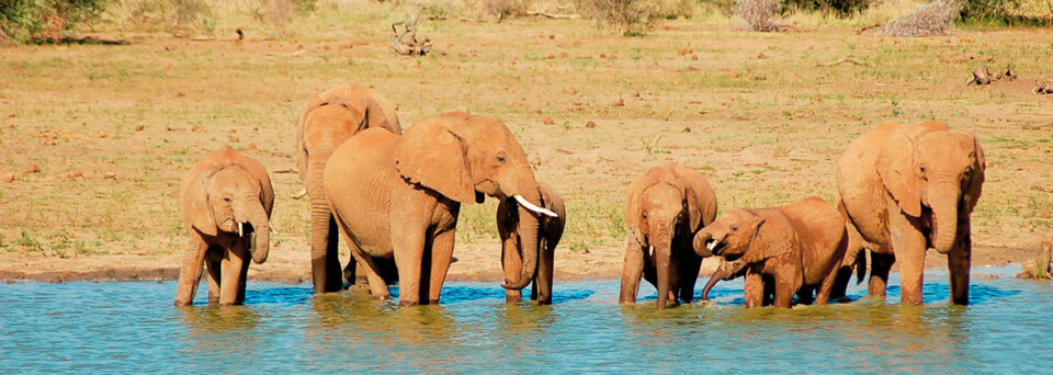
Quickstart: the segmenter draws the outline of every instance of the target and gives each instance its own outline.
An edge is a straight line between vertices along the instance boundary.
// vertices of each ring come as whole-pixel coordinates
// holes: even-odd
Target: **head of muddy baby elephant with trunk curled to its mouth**
[[[793,227],[782,215],[760,209],[732,209],[694,235],[699,254],[712,253],[744,265],[785,254],[793,249]]]

